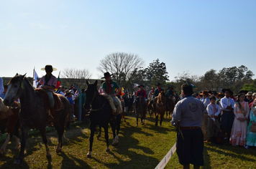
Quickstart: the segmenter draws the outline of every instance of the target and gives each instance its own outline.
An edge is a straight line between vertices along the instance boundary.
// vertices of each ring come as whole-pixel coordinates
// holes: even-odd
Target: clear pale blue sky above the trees
[[[97,79],[114,52],[137,54],[145,68],[160,59],[170,81],[241,65],[256,74],[255,9],[255,0],[0,0],[0,77],[32,77],[34,67],[42,77],[52,64],[56,77],[68,68]]]

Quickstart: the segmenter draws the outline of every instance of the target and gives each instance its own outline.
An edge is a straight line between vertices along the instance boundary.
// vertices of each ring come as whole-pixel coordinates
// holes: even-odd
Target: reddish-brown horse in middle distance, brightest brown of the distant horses
[[[166,97],[165,92],[160,92],[157,97],[155,97],[157,102],[155,102],[154,112],[155,112],[155,126],[157,126],[158,115],[160,115],[160,127],[162,127],[163,116],[165,115],[166,110]]]

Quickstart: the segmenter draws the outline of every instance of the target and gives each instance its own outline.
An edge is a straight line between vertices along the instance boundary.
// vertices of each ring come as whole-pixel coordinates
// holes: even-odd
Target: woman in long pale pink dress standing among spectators
[[[229,143],[232,145],[246,145],[247,120],[250,113],[248,102],[244,102],[244,94],[239,93],[234,104],[234,122]]]

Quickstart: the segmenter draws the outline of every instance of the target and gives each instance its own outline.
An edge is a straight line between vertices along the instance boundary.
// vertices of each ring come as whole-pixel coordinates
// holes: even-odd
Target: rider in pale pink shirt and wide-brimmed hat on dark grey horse
[[[57,78],[52,74],[52,71],[57,69],[53,68],[52,65],[47,64],[45,68],[42,68],[42,70],[45,70],[46,74],[41,78],[40,82],[37,84],[37,88],[40,87],[43,90],[45,90],[45,92],[47,92],[47,95],[49,97],[49,102],[50,102],[50,110],[48,114],[50,117],[52,117],[52,113],[53,113],[52,108],[54,107],[54,103],[55,103],[53,98],[53,92],[57,84]]]

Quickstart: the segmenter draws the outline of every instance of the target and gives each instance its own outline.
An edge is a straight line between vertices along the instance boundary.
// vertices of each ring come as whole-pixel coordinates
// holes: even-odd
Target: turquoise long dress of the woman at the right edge
[[[246,139],[247,146],[245,148],[249,148],[250,146],[256,146],[256,132],[250,131],[252,125],[256,125],[256,107],[251,107],[250,122],[248,125],[248,134]]]

